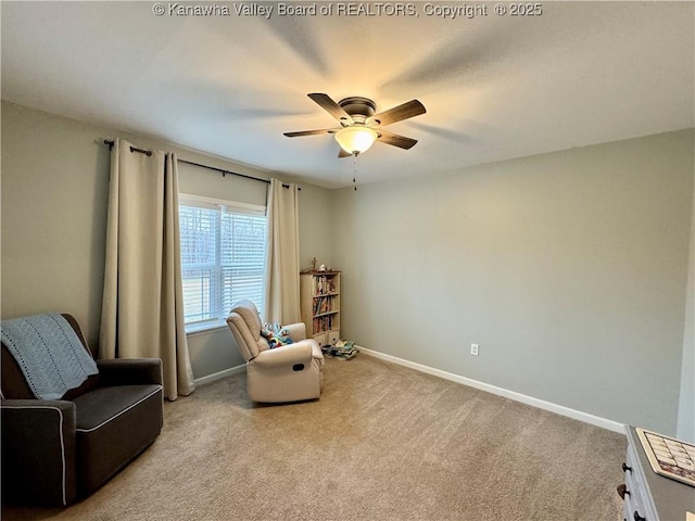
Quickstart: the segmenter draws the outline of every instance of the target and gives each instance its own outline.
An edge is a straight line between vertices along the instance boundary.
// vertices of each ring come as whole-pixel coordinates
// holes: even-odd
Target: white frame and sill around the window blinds
[[[251,203],[242,203],[242,202],[238,202],[238,201],[227,201],[227,200],[223,200],[223,199],[214,199],[214,198],[206,198],[206,196],[202,196],[202,195],[194,195],[194,194],[190,194],[190,193],[179,193],[178,194],[178,207],[179,207],[179,241],[181,240],[180,237],[180,207],[181,206],[188,206],[188,207],[199,207],[199,208],[206,208],[206,209],[213,209],[215,212],[217,212],[217,215],[220,217],[222,216],[222,211],[224,208],[225,212],[227,213],[235,213],[235,214],[245,214],[245,215],[252,215],[252,216],[256,216],[256,217],[264,217],[265,218],[265,238],[264,238],[264,243],[267,243],[267,233],[268,233],[268,221],[267,221],[267,206],[265,205],[260,205],[260,204],[251,204]],[[220,227],[222,223],[218,220],[218,230],[217,230],[217,238],[216,238],[216,247],[215,247],[215,269],[220,270],[222,271],[222,254],[220,254],[220,250],[222,250],[222,245],[220,245],[220,241],[219,241],[219,234],[222,232],[222,227]],[[265,245],[265,244],[264,244]],[[180,266],[181,266],[181,278],[182,278],[182,272],[185,269],[184,266],[184,262],[182,258],[180,256],[179,253],[179,259],[180,259]],[[261,288],[261,293],[262,295],[265,294],[265,274],[266,274],[266,266],[267,263],[267,252],[264,249],[263,252],[263,282],[262,282],[262,288]],[[224,310],[222,310],[222,293],[223,293],[223,285],[222,285],[222,277],[218,278],[218,284],[216,284],[215,288],[211,289],[211,295],[214,294],[215,300],[219,300],[219,309],[220,313],[224,313]],[[257,305],[262,305],[262,303],[258,303]],[[217,307],[217,306],[215,306]],[[200,333],[205,333],[208,331],[214,331],[214,330],[220,330],[220,329],[227,329],[227,322],[226,322],[226,317],[217,317],[217,318],[211,318],[211,319],[204,319],[204,320],[198,320],[198,321],[192,321],[192,322],[186,322],[185,323],[185,329],[186,329],[186,333],[188,335],[193,335],[193,334],[200,334]]]

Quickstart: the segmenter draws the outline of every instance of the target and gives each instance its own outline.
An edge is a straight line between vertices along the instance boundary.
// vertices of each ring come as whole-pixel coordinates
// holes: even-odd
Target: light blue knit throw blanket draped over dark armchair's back
[[[0,322],[2,343],[22,368],[37,398],[59,399],[97,374],[70,322],[59,314],[34,315]]]

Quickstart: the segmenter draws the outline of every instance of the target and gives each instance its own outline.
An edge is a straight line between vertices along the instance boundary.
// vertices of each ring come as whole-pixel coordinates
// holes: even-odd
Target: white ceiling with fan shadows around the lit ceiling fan
[[[282,136],[336,126],[308,92],[427,107],[388,127],[413,149],[376,143],[358,158],[362,182],[695,126],[692,1],[543,2],[526,17],[488,3],[455,20],[425,2],[405,17],[255,3],[269,20],[241,4],[204,17],[155,16],[152,1],[2,1],[2,99],[325,187],[350,185],[352,160],[331,136]]]

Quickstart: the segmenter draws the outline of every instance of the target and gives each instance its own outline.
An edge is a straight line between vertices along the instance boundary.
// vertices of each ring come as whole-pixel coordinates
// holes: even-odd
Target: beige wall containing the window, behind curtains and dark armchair
[[[143,148],[260,178],[269,173],[170,143],[2,103],[3,318],[42,312],[77,317],[90,345],[99,341],[103,289],[109,147],[122,137]],[[265,204],[266,183],[179,165],[186,193]],[[329,256],[330,192],[303,185],[301,258]],[[304,231],[306,228],[306,231]],[[228,330],[189,336],[195,378],[243,363]]]

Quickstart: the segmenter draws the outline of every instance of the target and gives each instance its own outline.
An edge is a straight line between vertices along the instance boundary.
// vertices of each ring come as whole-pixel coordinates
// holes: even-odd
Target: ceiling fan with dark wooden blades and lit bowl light
[[[410,149],[416,139],[399,136],[382,127],[409,117],[425,114],[425,105],[418,100],[410,100],[388,111],[376,113],[377,104],[368,98],[350,97],[336,103],[328,94],[315,92],[308,96],[321,109],[340,122],[340,127],[320,130],[302,130],[285,132],[288,138],[332,134],[340,144],[338,157],[349,157],[365,152],[375,141],[400,149]]]

